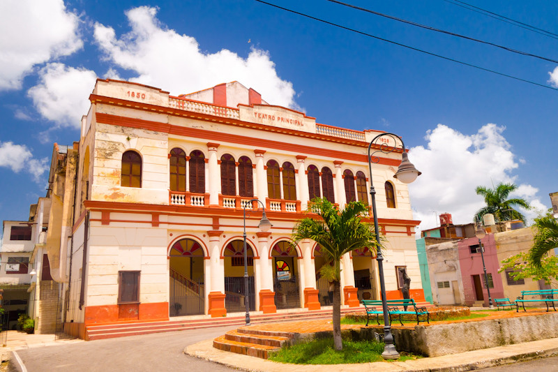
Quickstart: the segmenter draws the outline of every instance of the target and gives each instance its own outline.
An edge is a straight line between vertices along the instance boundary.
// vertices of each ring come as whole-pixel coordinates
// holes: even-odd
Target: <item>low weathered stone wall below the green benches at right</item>
[[[558,313],[514,318],[455,322],[441,325],[394,327],[395,347],[426,357],[455,354],[471,350],[495,348],[528,341],[558,337]],[[361,328],[363,339],[374,339],[374,333],[384,334],[383,327]]]

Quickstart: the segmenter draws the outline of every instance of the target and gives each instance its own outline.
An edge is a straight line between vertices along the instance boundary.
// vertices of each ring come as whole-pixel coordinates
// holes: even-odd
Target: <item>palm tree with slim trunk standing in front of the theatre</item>
[[[317,216],[308,216],[296,223],[292,231],[292,240],[297,244],[303,239],[312,239],[320,249],[333,270],[329,280],[333,281],[333,340],[335,350],[342,350],[341,340],[341,290],[340,261],[345,253],[357,248],[368,247],[376,252],[376,235],[374,228],[361,221],[361,214],[368,209],[362,202],[349,202],[345,209],[339,211],[324,198],[315,198],[308,203],[308,212]],[[326,269],[330,265],[324,265]]]

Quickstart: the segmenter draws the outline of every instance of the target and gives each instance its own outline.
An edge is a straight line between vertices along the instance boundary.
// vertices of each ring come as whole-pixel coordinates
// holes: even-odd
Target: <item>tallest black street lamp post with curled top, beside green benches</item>
[[[382,141],[379,142],[381,137]],[[395,143],[393,147],[391,147],[388,143],[386,143],[386,138],[389,137]],[[399,353],[395,350],[395,345],[393,343],[393,334],[391,334],[391,325],[389,322],[389,312],[388,312],[388,304],[386,301],[386,283],[384,281],[384,256],[382,255],[382,248],[379,239],[379,232],[378,232],[378,215],[376,213],[376,191],[374,189],[374,185],[372,184],[372,163],[379,162],[379,156],[373,156],[377,152],[382,152],[383,154],[389,154],[395,149],[398,149],[397,142],[401,142],[401,149],[402,149],[402,161],[399,165],[397,172],[393,175],[394,178],[398,179],[404,184],[410,184],[412,181],[416,179],[421,172],[418,172],[414,165],[409,162],[409,158],[407,156],[407,152],[405,152],[405,144],[401,140],[398,135],[393,133],[382,133],[377,135],[370,141],[368,145],[368,168],[370,169],[370,197],[372,198],[372,215],[374,216],[374,232],[376,234],[376,241],[377,241],[377,262],[378,262],[378,272],[379,272],[379,287],[380,291],[382,292],[382,308],[384,311],[384,352],[382,352],[382,357],[384,359],[397,359],[399,357]],[[374,151],[370,154],[370,149],[372,148],[372,144],[379,146],[379,149]],[[373,156],[373,157],[372,157]]]

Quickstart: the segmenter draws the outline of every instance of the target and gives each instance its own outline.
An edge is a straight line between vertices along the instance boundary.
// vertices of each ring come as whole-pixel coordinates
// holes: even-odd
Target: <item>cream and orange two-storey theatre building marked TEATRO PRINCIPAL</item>
[[[68,258],[59,265],[66,271],[63,320],[74,332],[100,322],[243,311],[244,209],[252,311],[329,305],[317,274],[324,264],[319,249],[312,241],[292,248],[289,237],[315,196],[341,209],[347,200],[370,202],[366,151],[381,132],[318,124],[239,82],[174,97],[98,80],[90,101],[75,223],[59,256]],[[393,151],[372,168],[386,289],[389,298],[402,297],[397,273],[404,268],[412,297],[423,301],[414,244],[419,221],[407,186],[393,178],[400,159]],[[262,214],[252,199],[266,207],[268,232],[257,228]],[[379,298],[377,283],[370,252],[343,258],[345,305]]]

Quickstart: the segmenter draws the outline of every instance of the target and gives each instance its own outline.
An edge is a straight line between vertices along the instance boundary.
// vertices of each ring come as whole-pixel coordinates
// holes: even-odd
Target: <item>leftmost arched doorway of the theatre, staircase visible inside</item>
[[[169,315],[204,313],[204,250],[193,239],[180,239],[169,252]]]

